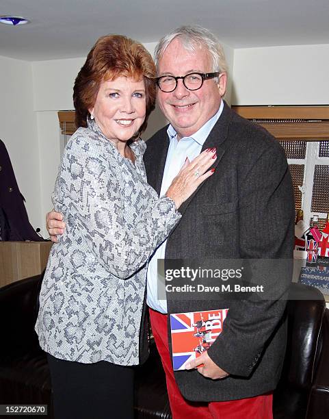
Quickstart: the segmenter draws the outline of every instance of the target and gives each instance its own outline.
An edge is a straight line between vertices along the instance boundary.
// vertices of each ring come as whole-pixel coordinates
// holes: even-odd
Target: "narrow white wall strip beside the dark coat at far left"
[[[40,156],[30,62],[0,57],[0,138],[10,155],[31,225],[41,227]]]

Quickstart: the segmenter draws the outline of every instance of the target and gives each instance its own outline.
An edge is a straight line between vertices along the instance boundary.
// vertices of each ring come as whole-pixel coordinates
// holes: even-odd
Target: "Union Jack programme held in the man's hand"
[[[228,309],[170,314],[172,366],[185,370],[185,364],[200,357],[222,333]]]

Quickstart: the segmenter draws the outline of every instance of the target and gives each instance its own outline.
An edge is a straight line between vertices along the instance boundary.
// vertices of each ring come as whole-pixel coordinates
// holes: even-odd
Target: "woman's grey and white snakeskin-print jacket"
[[[146,182],[146,144],[131,149],[135,164],[88,120],[64,150],[53,205],[66,230],[51,249],[36,322],[54,357],[139,362],[147,261],[181,214]]]

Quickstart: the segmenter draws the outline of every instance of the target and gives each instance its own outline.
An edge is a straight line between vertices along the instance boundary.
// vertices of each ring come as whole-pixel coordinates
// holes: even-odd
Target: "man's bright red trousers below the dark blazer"
[[[196,403],[181,395],[174,379],[168,347],[167,315],[150,309],[150,322],[161,356],[173,419],[273,419],[272,393],[240,400]]]

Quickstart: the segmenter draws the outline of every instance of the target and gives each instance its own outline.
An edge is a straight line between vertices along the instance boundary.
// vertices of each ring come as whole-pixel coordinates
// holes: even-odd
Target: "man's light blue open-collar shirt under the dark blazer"
[[[174,127],[169,125],[167,130],[169,149],[163,171],[160,196],[166,194],[172,183],[172,179],[179,173],[179,170],[181,170],[181,167],[185,163],[186,157],[192,162],[192,160],[200,154],[202,146],[205,143],[205,140],[207,140],[211,129],[213,129],[213,126],[222,114],[223,107],[224,102],[221,101],[218,112],[190,137],[183,137],[181,140],[177,140],[177,133],[174,130]],[[167,313],[167,301],[158,299],[157,259],[165,259],[166,244],[167,240],[157,248],[148,262],[147,270],[147,304],[149,307],[163,314]]]

